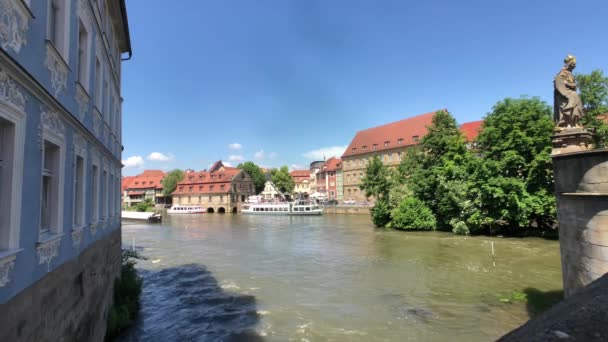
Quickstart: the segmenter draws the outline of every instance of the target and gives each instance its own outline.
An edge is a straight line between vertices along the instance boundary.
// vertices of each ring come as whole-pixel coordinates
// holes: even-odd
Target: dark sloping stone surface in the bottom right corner
[[[499,341],[608,341],[608,273]]]

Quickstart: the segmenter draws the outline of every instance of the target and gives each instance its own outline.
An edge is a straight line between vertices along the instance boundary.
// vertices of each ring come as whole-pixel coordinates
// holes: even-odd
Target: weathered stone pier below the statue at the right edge
[[[608,150],[553,156],[566,297],[608,272]]]

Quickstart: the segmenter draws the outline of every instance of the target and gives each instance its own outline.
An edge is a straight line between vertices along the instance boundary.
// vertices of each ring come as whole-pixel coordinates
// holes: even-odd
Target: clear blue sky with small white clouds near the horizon
[[[168,5],[170,3],[170,5]],[[608,72],[606,0],[127,0],[123,169],[308,168],[359,130],[553,102],[567,54]]]

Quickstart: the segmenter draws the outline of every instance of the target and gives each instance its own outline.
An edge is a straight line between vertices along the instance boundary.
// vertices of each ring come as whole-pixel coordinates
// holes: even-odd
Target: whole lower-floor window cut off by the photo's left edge
[[[0,252],[19,248],[23,118],[0,110]]]

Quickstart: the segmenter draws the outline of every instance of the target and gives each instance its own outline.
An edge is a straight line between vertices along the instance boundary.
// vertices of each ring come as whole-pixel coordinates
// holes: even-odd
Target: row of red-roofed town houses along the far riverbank
[[[388,166],[397,166],[406,150],[417,145],[427,134],[435,112],[430,112],[382,126],[357,132],[341,157],[314,161],[308,169],[293,170],[291,177],[295,187],[291,195],[312,197],[338,202],[363,203],[365,195],[360,190],[361,179],[367,163],[379,156]],[[482,121],[464,123],[460,126],[469,143],[477,137]],[[251,178],[244,171],[216,162],[208,171],[186,171],[184,179],[171,194],[163,195],[159,170],[147,170],[133,177],[124,177],[122,182],[123,207],[130,207],[149,199],[157,205],[201,204],[213,211],[237,211],[240,203],[256,195]],[[262,198],[269,200],[281,194],[272,182],[267,181]],[[210,210],[210,211],[211,211]]]

